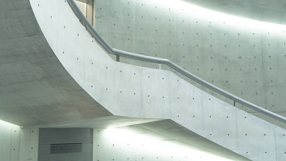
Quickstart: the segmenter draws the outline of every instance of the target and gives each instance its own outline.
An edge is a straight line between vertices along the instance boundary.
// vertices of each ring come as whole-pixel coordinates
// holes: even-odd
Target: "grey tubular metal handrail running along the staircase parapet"
[[[122,50],[118,50],[118,49],[114,49],[112,48],[101,36],[100,34],[96,31],[96,29],[92,26],[92,24],[88,21],[88,19],[86,19],[86,17],[83,15],[83,13],[80,11],[80,9],[78,8],[78,6],[76,5],[76,3],[74,2],[74,0],[67,0],[67,2],[69,3],[70,7],[72,8],[72,10],[74,11],[76,17],[78,17],[79,21],[82,23],[82,25],[86,28],[86,30],[94,37],[94,39],[96,39],[96,41],[110,54],[113,55],[117,55],[117,57],[119,58],[119,56],[122,57],[126,57],[126,58],[130,58],[130,59],[136,59],[136,60],[140,60],[140,61],[147,61],[147,62],[152,62],[152,63],[161,63],[161,64],[165,64],[168,65],[169,67],[171,67],[172,69],[178,71],[179,73],[181,73],[182,75],[185,75],[186,77],[192,79],[193,81],[209,88],[210,90],[213,90],[231,100],[235,102],[238,102],[244,106],[247,106],[255,111],[258,111],[262,114],[265,114],[271,118],[274,118],[276,120],[279,120],[281,122],[286,123],[286,118],[283,116],[280,116],[278,114],[275,114],[274,112],[268,111],[264,108],[261,108],[255,104],[252,104],[246,100],[243,100],[242,98],[239,98],[233,94],[230,94],[229,92],[226,92],[225,90],[222,90],[221,88],[218,88],[217,86],[214,86],[206,81],[204,81],[203,79],[197,77],[196,75],[193,75],[192,73],[186,71],[185,69],[183,69],[182,67],[178,66],[177,64],[173,63],[172,61],[170,61],[169,59],[162,59],[162,58],[157,58],[157,57],[150,57],[150,56],[145,56],[145,55],[139,55],[139,54],[135,54],[135,53],[130,53],[130,52],[126,52],[126,51],[122,51]]]

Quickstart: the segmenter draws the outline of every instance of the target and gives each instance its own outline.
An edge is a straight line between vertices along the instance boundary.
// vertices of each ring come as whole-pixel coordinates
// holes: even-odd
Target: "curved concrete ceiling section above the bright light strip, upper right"
[[[285,0],[181,0],[213,11],[286,25]]]

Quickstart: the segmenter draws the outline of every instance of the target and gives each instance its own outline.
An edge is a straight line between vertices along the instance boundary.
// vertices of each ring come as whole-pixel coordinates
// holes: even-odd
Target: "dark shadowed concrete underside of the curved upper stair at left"
[[[25,127],[112,115],[63,68],[28,0],[0,1],[0,28],[1,120]]]

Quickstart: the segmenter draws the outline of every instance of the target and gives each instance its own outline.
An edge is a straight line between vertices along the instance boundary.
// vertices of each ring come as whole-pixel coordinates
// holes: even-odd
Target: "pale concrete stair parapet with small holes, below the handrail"
[[[31,5],[59,61],[112,114],[172,119],[251,160],[285,158],[286,147],[280,144],[285,142],[285,129],[203,92],[171,71],[112,60],[65,1],[31,0]]]

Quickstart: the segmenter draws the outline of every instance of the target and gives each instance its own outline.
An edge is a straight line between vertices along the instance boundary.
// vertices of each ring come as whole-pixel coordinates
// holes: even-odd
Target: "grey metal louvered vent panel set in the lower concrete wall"
[[[40,128],[38,161],[92,161],[93,128]]]

